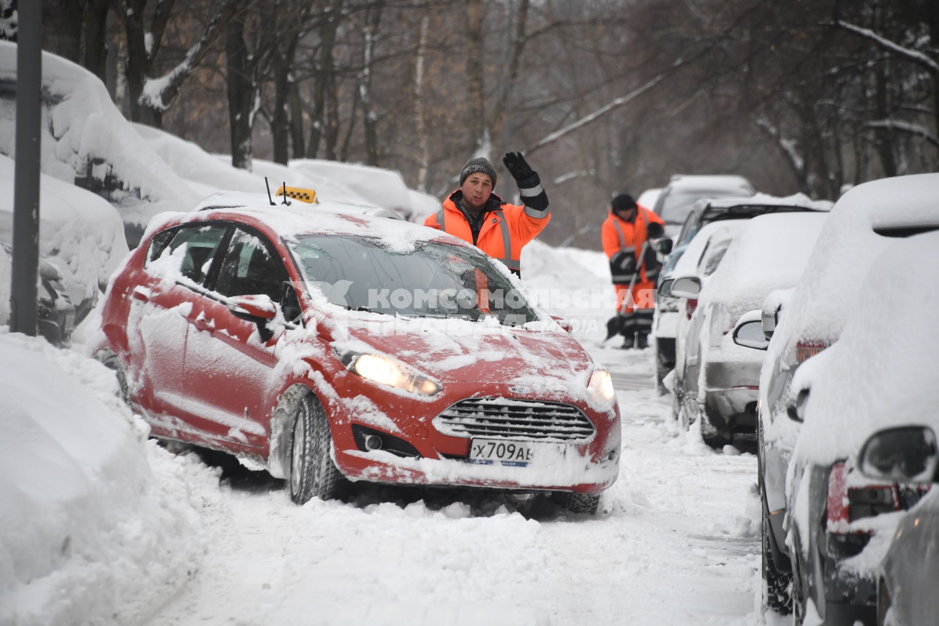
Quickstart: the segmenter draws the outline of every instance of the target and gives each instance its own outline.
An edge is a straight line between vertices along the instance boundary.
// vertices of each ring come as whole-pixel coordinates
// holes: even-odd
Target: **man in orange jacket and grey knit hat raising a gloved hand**
[[[521,205],[503,202],[492,192],[496,169],[479,157],[467,161],[460,171],[460,189],[423,223],[475,245],[521,276],[522,248],[545,229],[551,211],[541,179],[521,152],[509,152],[502,162],[516,179]]]

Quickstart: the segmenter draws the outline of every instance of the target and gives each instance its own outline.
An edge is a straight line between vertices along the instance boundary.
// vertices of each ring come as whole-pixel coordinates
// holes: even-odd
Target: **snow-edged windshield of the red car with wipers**
[[[304,280],[346,309],[507,326],[537,319],[492,259],[470,248],[425,241],[395,252],[377,238],[337,235],[300,236],[290,247]]]

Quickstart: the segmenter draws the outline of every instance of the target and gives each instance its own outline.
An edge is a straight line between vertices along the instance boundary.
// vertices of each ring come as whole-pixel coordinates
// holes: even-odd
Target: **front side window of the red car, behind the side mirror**
[[[263,294],[274,302],[284,296],[287,272],[270,242],[241,228],[235,230],[222,262],[215,291],[227,297]]]

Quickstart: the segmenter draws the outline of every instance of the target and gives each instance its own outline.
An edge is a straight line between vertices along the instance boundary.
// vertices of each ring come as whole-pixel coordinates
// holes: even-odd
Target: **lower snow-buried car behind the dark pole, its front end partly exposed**
[[[0,325],[8,324],[15,163],[0,155]],[[67,345],[127,254],[114,206],[89,191],[40,175],[38,331]]]

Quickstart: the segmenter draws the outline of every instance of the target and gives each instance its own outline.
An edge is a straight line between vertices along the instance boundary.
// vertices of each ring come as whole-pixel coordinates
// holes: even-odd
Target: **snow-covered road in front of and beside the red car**
[[[589,262],[602,271],[587,286],[607,287],[598,253],[571,253],[586,256],[553,260],[573,273],[546,281],[583,285]],[[375,486],[297,507],[282,481],[212,456],[227,478],[202,494],[205,559],[150,625],[758,623],[755,457],[678,430],[651,351],[583,343],[623,414],[620,479],[595,518],[540,497]]]

